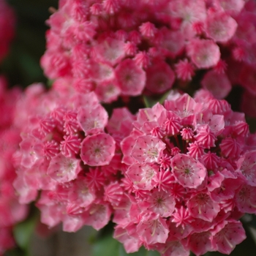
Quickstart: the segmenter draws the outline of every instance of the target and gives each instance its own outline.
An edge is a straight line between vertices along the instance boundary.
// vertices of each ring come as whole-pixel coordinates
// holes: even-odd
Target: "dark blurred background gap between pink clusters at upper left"
[[[57,9],[57,0],[10,0],[15,10],[16,34],[10,53],[1,64],[1,73],[10,86],[23,88],[34,82],[46,82],[39,59],[45,51],[45,24],[50,16],[49,7]]]

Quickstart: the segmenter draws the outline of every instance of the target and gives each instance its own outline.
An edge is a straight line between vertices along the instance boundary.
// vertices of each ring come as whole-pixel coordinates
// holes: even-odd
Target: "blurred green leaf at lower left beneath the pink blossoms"
[[[13,233],[15,241],[20,246],[20,248],[27,250],[29,245],[29,240],[34,231],[34,227],[37,223],[37,218],[27,219],[25,222],[20,222],[18,225],[15,225]]]

